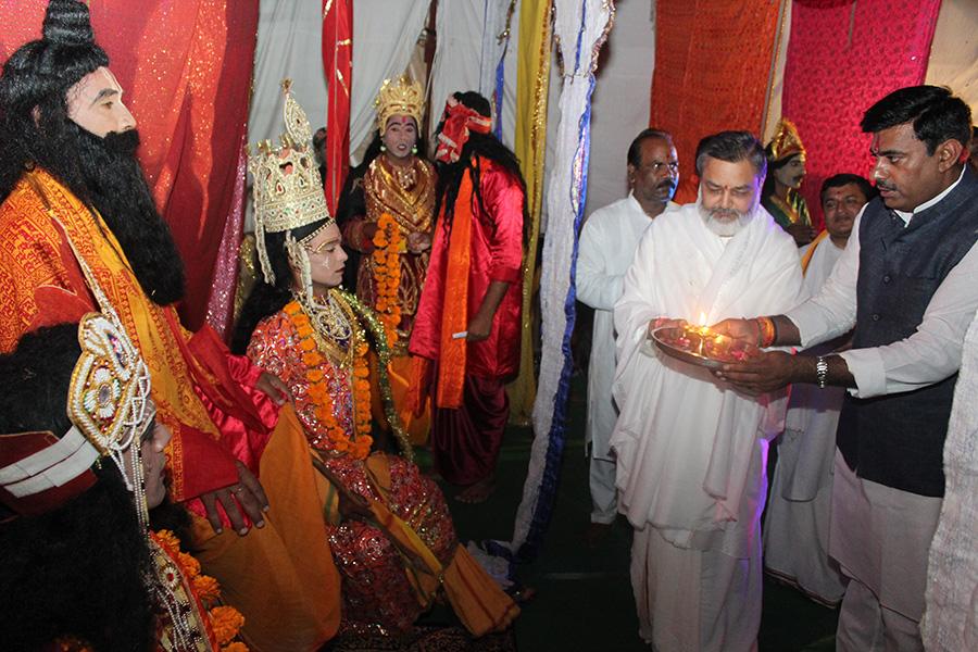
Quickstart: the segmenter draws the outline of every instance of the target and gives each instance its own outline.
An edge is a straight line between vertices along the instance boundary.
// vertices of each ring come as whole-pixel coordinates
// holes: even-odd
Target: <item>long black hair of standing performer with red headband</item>
[[[478,112],[479,115],[485,117],[492,116],[489,100],[474,90],[455,92],[452,97],[465,106]],[[441,133],[442,126],[443,123],[439,124],[436,133]],[[455,163],[435,163],[435,167],[438,171],[438,184],[435,188],[435,215],[439,215],[441,206],[444,206],[444,221],[451,228],[452,217],[455,213],[455,200],[459,198],[459,188],[462,185],[462,177],[466,170],[469,171],[472,177],[473,199],[479,206],[479,210],[485,212],[486,206],[482,203],[482,192],[479,184],[480,171],[476,164],[477,156],[492,161],[506,174],[516,179],[523,189],[523,240],[526,243],[529,239],[530,220],[526,203],[526,181],[519,170],[519,160],[491,131],[489,134],[472,131],[468,135],[468,140],[462,147],[462,152]]]

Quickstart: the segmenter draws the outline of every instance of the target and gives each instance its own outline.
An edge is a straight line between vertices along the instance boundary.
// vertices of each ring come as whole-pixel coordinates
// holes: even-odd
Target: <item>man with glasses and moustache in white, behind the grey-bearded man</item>
[[[587,542],[595,546],[617,515],[615,461],[609,439],[618,418],[612,399],[615,376],[615,328],[612,310],[622,297],[625,272],[642,231],[676,192],[679,160],[672,136],[645,129],[628,148],[628,197],[599,209],[585,223],[577,258],[577,298],[594,309],[588,364],[586,453],[590,460],[591,527]]]

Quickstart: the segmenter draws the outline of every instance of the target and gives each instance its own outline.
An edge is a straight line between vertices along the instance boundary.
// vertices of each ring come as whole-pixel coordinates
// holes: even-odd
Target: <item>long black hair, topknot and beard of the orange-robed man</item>
[[[101,214],[153,302],[181,299],[183,261],[136,159],[138,134],[100,138],[67,115],[68,89],[109,65],[93,41],[88,8],[53,0],[42,34],[13,53],[0,76],[0,201],[25,168],[42,167]]]

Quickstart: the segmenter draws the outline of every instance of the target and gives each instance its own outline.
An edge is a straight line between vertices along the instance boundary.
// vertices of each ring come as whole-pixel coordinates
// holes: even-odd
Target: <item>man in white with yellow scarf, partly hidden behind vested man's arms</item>
[[[826,230],[800,252],[807,296],[817,294],[831,274],[856,215],[873,196],[869,181],[853,174],[835,175],[822,185]],[[843,335],[806,353],[826,354],[847,342]],[[828,554],[836,428],[844,393],[841,387],[791,388],[764,517],[765,569],[827,606],[838,604],[845,590]]]

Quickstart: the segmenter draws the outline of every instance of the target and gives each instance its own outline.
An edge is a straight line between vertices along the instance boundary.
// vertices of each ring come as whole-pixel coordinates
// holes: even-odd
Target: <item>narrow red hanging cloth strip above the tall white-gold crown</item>
[[[353,1],[323,0],[323,70],[326,71],[326,202],[336,212],[350,167],[350,74]]]

